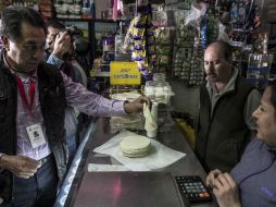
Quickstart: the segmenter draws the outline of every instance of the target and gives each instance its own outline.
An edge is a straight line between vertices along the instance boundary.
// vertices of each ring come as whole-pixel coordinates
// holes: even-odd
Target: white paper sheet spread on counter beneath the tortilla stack
[[[186,154],[171,149],[158,141],[151,139],[151,151],[148,156],[139,158],[124,157],[120,148],[120,143],[124,137],[130,135],[135,135],[135,133],[123,131],[100,147],[93,149],[93,151],[112,156],[133,171],[151,171],[165,168],[186,156]]]

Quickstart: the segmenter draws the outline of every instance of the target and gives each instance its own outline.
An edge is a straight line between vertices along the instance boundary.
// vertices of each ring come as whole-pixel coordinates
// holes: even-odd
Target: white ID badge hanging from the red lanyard
[[[46,144],[45,135],[40,124],[33,124],[27,126],[26,130],[33,148]]]

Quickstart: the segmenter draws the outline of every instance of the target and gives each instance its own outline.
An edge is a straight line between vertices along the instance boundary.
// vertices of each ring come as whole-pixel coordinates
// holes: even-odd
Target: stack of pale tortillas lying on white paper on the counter
[[[145,157],[150,153],[150,139],[146,136],[127,136],[120,143],[120,146],[125,157]]]

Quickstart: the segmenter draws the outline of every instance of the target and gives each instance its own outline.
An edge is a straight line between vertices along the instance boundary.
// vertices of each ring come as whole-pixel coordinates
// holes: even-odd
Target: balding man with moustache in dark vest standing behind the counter
[[[227,42],[215,41],[208,47],[204,70],[196,153],[206,171],[229,171],[255,129],[252,112],[260,105],[261,94],[234,68]]]

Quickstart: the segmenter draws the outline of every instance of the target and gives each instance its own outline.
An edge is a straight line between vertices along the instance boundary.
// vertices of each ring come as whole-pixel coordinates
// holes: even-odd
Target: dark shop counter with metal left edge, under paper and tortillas
[[[143,133],[145,132],[139,132],[139,134]],[[183,133],[176,124],[173,125],[167,132],[158,132],[156,136],[156,141],[163,145],[186,154],[184,158],[179,159],[173,165],[163,169],[159,169],[154,172],[88,172],[89,163],[120,165],[112,157],[93,153],[96,147],[101,146],[113,136],[114,134],[112,134],[110,131],[110,119],[104,118],[91,121],[78,147],[68,174],[65,178],[63,185],[61,186],[54,206],[125,207],[124,204],[127,204],[129,200],[128,197],[124,197],[125,194],[122,192],[122,188],[124,188],[124,191],[127,188],[127,195],[135,199],[131,203],[133,206],[142,207],[145,205],[135,204],[145,204],[146,199],[149,202],[149,205],[147,206],[161,207],[166,206],[162,200],[170,200],[171,204],[173,204],[172,202],[176,200],[177,196],[179,197],[179,195],[176,195],[177,193],[175,193],[174,188],[176,187],[174,187],[172,182],[170,182],[170,176],[199,175],[203,181],[205,181],[205,171],[203,170],[202,166],[200,165],[199,160],[197,159],[196,155],[193,154],[192,149],[188,145]],[[134,176],[139,176],[139,187],[137,187],[137,183],[134,183]],[[158,186],[156,183],[159,183],[159,187],[153,191],[153,194],[151,194],[149,188],[154,188]],[[164,186],[160,186],[160,183],[164,183]],[[109,192],[109,188],[112,188],[112,193],[114,195],[103,195],[104,193],[106,194],[106,192]],[[148,196],[139,196],[140,194],[147,194]],[[165,196],[163,196],[164,194]],[[154,200],[151,199],[151,196],[154,195],[162,195],[160,197],[162,205],[152,205]],[[89,196],[91,200],[89,200]],[[104,199],[104,196],[106,199]],[[98,199],[101,199],[101,205],[99,205]],[[98,203],[96,202],[96,198]],[[150,205],[150,203],[152,204]],[[167,207],[171,206],[177,207],[178,205],[170,205]],[[191,206],[211,207],[217,206],[217,204],[215,199],[213,199],[213,202]]]

